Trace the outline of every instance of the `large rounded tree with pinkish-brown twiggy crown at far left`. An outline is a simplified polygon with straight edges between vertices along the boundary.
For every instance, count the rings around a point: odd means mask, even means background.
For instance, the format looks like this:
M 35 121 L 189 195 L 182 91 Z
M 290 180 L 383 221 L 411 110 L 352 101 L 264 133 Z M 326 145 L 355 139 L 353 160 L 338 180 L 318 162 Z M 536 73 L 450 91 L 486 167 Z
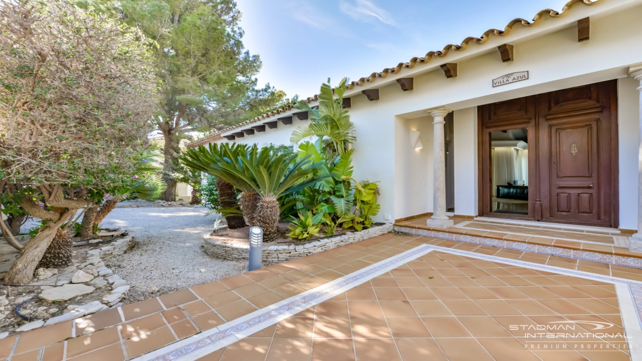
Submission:
M 150 40 L 68 0 L 3 1 L 0 28 L 0 198 L 44 221 L 5 276 L 26 283 L 61 225 L 133 179 L 157 81 Z

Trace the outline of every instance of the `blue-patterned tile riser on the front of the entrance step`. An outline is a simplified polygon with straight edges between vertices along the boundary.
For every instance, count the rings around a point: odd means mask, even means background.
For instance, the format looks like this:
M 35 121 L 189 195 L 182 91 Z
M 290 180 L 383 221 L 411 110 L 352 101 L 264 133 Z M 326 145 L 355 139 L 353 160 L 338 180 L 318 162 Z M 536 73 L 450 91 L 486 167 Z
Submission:
M 395 225 L 394 230 L 398 232 L 416 234 L 417 236 L 441 238 L 442 240 L 474 243 L 478 245 L 489 245 L 492 247 L 515 249 L 517 251 L 550 254 L 551 256 L 575 258 L 576 260 L 609 263 L 611 265 L 635 267 L 638 269 L 642 269 L 642 258 L 616 256 L 614 254 L 605 254 L 605 253 L 598 253 L 598 252 L 591 252 L 591 251 L 580 251 L 576 249 L 553 247 L 548 245 L 535 245 L 533 243 L 514 242 L 514 241 L 507 241 L 507 240 L 495 240 L 493 238 L 467 236 L 465 234 L 429 231 L 428 229 L 418 229 L 418 228 L 412 228 L 412 227 L 399 227 L 398 225 Z

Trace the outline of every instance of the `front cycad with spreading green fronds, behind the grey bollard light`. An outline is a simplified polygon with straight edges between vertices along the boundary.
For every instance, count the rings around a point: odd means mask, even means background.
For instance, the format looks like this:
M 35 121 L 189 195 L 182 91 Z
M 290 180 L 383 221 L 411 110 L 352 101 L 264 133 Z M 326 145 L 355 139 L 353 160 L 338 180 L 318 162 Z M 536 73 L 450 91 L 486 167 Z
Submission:
M 210 144 L 185 152 L 184 163 L 192 168 L 210 173 L 229 182 L 243 193 L 254 192 L 258 201 L 252 214 L 241 205 L 250 225 L 263 229 L 264 240 L 271 242 L 278 237 L 279 201 L 286 195 L 315 184 L 325 177 L 322 164 L 309 157 L 299 158 L 285 147 L 256 145 Z M 241 195 L 243 199 L 243 195 Z

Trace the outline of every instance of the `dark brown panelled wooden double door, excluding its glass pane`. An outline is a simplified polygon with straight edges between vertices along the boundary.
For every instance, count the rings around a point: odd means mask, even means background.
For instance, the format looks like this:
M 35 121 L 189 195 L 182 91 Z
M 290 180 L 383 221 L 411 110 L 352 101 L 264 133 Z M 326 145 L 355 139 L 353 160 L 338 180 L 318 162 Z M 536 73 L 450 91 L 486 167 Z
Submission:
M 618 226 L 617 82 L 478 107 L 480 215 Z M 492 208 L 491 134 L 528 134 L 528 215 Z

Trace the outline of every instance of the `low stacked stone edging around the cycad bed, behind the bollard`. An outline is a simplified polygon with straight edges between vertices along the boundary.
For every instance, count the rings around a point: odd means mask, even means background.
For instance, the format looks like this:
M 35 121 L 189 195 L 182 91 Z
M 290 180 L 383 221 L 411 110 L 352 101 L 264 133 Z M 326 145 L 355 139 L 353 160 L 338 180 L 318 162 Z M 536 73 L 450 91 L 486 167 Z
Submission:
M 384 233 L 392 231 L 392 224 L 379 225 L 361 232 L 349 232 L 333 238 L 325 238 L 302 245 L 271 245 L 263 246 L 263 261 L 282 262 L 294 260 L 309 254 L 327 251 L 342 245 L 367 240 Z M 249 245 L 232 245 L 216 240 L 215 236 L 205 234 L 203 236 L 203 251 L 211 257 L 223 258 L 225 260 L 247 260 L 250 254 Z

